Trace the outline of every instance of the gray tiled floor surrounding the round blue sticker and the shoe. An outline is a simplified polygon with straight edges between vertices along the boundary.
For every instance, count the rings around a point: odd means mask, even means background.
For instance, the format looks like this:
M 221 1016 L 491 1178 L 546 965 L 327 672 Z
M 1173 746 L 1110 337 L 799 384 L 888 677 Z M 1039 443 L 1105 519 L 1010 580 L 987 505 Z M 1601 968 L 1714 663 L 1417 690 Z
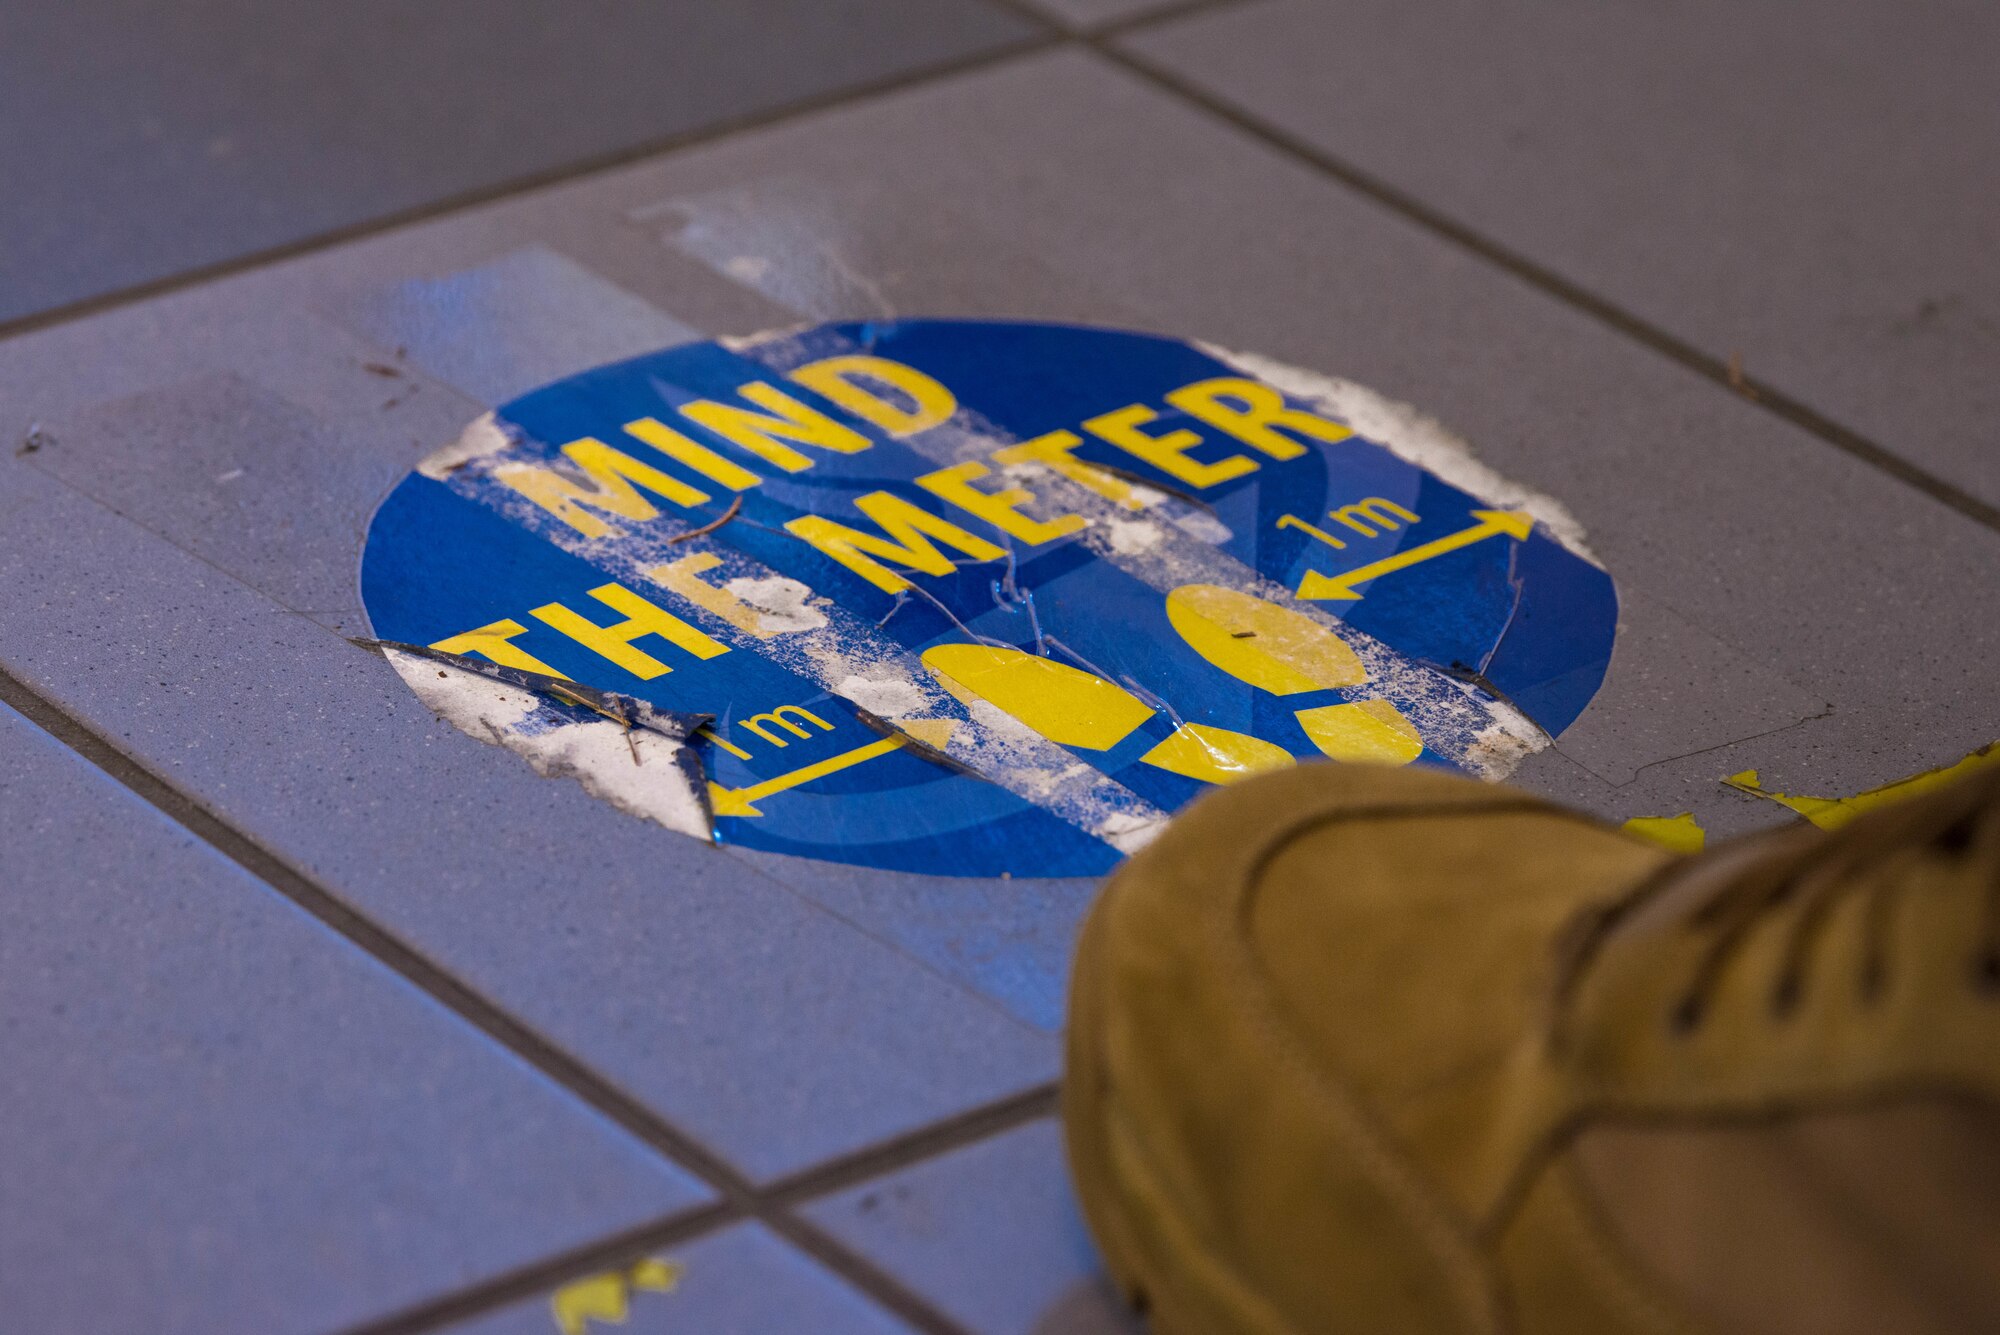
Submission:
M 340 640 L 368 516 L 422 454 L 692 332 L 1078 320 L 1420 404 L 1558 496 L 1618 582 L 1610 677 L 1522 773 L 1610 817 L 1746 829 L 1780 813 L 1718 783 L 1738 769 L 1854 791 L 2000 737 L 1976 6 L 1850 0 L 1810 34 L 1766 0 L 1048 0 L 1062 28 L 870 0 L 746 6 L 754 32 L 730 8 L 554 42 L 514 0 L 390 24 L 388 64 L 380 34 L 220 4 L 172 32 L 106 0 L 78 10 L 98 28 L 0 18 L 32 74 L 0 82 L 0 164 L 48 192 L 0 224 L 0 699 L 26 719 L 0 715 L 0 799 L 28 829 L 0 855 L 36 887 L 0 905 L 32 919 L 0 937 L 30 979 L 0 1043 L 60 1075 L 8 1119 L 88 1105 L 64 1135 L 174 1157 L 204 1107 L 250 1147 L 194 1191 L 0 1145 L 0 1195 L 60 1199 L 66 1255 L 130 1259 L 90 1329 L 162 1329 L 150 1295 L 174 1329 L 558 1331 L 554 1295 L 640 1257 L 682 1269 L 620 1289 L 618 1329 L 1126 1329 L 1048 1117 L 1088 885 L 662 865 L 658 831 Z M 162 72 L 206 66 L 238 74 Z M 418 102 L 374 74 L 444 68 Z M 122 102 L 76 112 L 64 70 Z M 486 122 L 494 70 L 536 78 Z M 206 977 L 118 963 L 172 933 L 216 941 Z M 260 1005 L 274 959 L 298 981 Z M 132 1057 L 160 1027 L 186 1059 Z M 288 1035 L 320 1065 L 278 1059 Z M 90 1061 L 130 1063 L 122 1101 Z M 430 1075 L 354 1079 L 398 1061 Z M 346 1117 L 330 1209 L 300 1105 Z M 460 1143 L 446 1115 L 494 1123 Z M 34 1313 L 66 1293 L 44 1221 L 0 1221 Z

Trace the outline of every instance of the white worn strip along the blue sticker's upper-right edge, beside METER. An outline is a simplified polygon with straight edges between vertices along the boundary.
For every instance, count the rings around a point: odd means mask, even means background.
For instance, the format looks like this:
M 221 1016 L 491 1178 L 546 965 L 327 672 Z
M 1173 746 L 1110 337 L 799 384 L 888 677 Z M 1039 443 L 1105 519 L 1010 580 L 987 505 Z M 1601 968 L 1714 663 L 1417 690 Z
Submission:
M 1344 422 L 1358 434 L 1384 446 L 1396 458 L 1436 474 L 1460 492 L 1470 492 L 1494 510 L 1526 510 L 1564 548 L 1592 566 L 1604 564 L 1584 542 L 1584 526 L 1576 522 L 1576 516 L 1562 502 L 1502 478 L 1472 454 L 1470 444 L 1454 436 L 1424 410 L 1398 404 L 1386 394 L 1376 394 L 1352 380 L 1300 370 L 1254 352 L 1230 352 L 1212 344 L 1196 346 L 1218 362 L 1234 366 L 1244 376 L 1262 380 L 1292 398 L 1306 400 L 1328 418 Z

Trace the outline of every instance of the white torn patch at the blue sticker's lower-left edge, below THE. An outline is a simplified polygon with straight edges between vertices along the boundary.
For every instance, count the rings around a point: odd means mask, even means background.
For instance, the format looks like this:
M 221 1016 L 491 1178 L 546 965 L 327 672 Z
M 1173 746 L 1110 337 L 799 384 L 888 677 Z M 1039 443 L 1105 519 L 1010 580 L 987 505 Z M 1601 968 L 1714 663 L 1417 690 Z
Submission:
M 544 779 L 576 779 L 620 811 L 708 839 L 708 813 L 676 763 L 672 737 L 646 727 L 628 733 L 610 719 L 552 721 L 534 691 L 414 654 L 384 654 L 424 707 L 468 737 L 504 745 Z

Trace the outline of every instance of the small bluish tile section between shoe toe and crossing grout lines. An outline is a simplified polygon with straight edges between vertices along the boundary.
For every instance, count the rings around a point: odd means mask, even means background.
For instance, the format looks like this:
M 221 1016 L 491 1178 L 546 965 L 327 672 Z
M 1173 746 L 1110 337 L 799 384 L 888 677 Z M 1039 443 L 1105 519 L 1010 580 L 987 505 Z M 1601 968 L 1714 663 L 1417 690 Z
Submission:
M 1136 1335 L 1036 1121 L 806 1211 L 978 1335 Z

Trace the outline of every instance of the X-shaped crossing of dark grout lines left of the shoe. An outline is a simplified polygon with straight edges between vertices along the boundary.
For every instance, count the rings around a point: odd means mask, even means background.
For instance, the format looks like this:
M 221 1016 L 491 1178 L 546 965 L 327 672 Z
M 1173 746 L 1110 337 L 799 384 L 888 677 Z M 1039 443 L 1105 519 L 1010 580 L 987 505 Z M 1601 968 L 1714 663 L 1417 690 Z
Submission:
M 126 755 L 110 739 L 76 719 L 62 705 L 36 691 L 6 668 L 0 668 L 0 703 L 12 707 L 70 751 L 96 765 L 110 779 L 122 783 L 136 797 L 178 823 L 182 829 L 208 843 L 216 853 L 228 857 L 272 891 L 284 895 L 302 911 L 310 913 L 350 945 L 362 949 L 376 963 L 428 995 L 434 1003 L 484 1033 L 538 1075 L 570 1093 L 574 1099 L 644 1143 L 654 1153 L 660 1153 L 676 1167 L 682 1167 L 698 1177 L 718 1197 L 708 1205 L 700 1205 L 692 1211 L 676 1213 L 666 1221 L 646 1225 L 646 1237 L 654 1237 L 654 1233 L 678 1237 L 682 1229 L 692 1229 L 696 1221 L 716 1225 L 738 1217 L 758 1219 L 772 1231 L 790 1239 L 802 1251 L 814 1255 L 822 1265 L 832 1269 L 884 1309 L 908 1321 L 918 1331 L 924 1331 L 926 1335 L 964 1335 L 958 1323 L 940 1313 L 926 1299 L 910 1291 L 898 1279 L 880 1271 L 872 1261 L 856 1255 L 846 1245 L 826 1235 L 816 1225 L 786 1213 L 786 1205 L 796 1203 L 798 1193 L 802 1191 L 800 1183 L 804 1189 L 812 1189 L 812 1183 L 824 1179 L 826 1183 L 832 1183 L 826 1189 L 834 1189 L 836 1183 L 848 1181 L 850 1177 L 872 1175 L 876 1163 L 882 1163 L 884 1167 L 900 1167 L 928 1157 L 930 1153 L 940 1153 L 960 1143 L 994 1135 L 1010 1125 L 1016 1125 L 1018 1121 L 1042 1115 L 1054 1099 L 1052 1087 L 1038 1085 L 992 1105 L 970 1109 L 966 1113 L 958 1113 L 956 1117 L 948 1117 L 918 1131 L 894 1137 L 882 1145 L 860 1149 L 852 1155 L 834 1159 L 828 1165 L 806 1169 L 794 1179 L 780 1181 L 784 1201 L 778 1201 L 772 1191 L 760 1191 L 720 1155 L 712 1153 L 694 1137 L 658 1117 L 652 1109 L 628 1095 L 616 1083 L 536 1033 L 510 1011 L 460 981 L 442 965 L 434 963 L 428 955 L 404 943 L 386 927 L 380 927 L 374 919 L 352 909 L 346 901 L 318 885 L 304 871 L 292 867 L 280 855 L 226 823 L 196 797 L 184 793 L 168 779 Z M 786 1181 L 792 1185 L 786 1187 Z M 630 1243 L 630 1235 L 622 1235 L 620 1245 Z M 596 1257 L 602 1247 L 604 1245 L 588 1247 L 584 1255 Z M 562 1261 L 570 1259 L 574 1259 L 572 1253 L 562 1257 Z M 554 1263 L 548 1265 L 552 1267 Z M 542 1277 L 542 1271 L 544 1267 L 540 1265 L 528 1267 L 528 1273 L 536 1277 Z M 508 1287 L 506 1283 L 502 1283 L 502 1287 L 504 1293 L 492 1301 L 506 1301 L 506 1297 L 514 1295 L 514 1287 Z M 448 1307 L 446 1315 L 464 1315 L 460 1311 L 462 1303 L 456 1297 L 438 1299 L 438 1305 Z M 430 1309 L 432 1307 L 426 1305 L 406 1317 L 390 1317 L 382 1323 L 362 1327 L 362 1331 L 368 1335 L 414 1335 L 414 1331 L 430 1329 L 434 1325 L 434 1319 L 428 1315 Z

